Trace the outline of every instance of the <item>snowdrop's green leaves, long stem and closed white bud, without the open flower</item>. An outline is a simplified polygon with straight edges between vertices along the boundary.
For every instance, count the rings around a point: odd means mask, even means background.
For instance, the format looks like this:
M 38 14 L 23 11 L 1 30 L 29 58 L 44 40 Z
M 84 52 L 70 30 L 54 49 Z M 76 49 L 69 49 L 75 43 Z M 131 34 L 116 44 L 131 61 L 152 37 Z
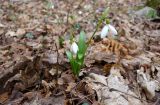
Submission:
M 73 38 L 71 40 L 72 48 L 71 48 L 71 51 L 66 51 L 66 55 L 67 55 L 69 62 L 71 64 L 71 70 L 72 70 L 73 74 L 77 77 L 79 76 L 81 68 L 84 66 L 85 54 L 86 54 L 87 48 L 90 45 L 91 40 L 95 36 L 96 32 L 98 31 L 98 28 L 101 26 L 103 21 L 105 21 L 105 22 L 109 21 L 109 19 L 106 18 L 107 14 L 108 14 L 108 10 L 109 9 L 107 8 L 103 12 L 102 16 L 98 20 L 95 31 L 93 32 L 92 36 L 89 38 L 88 41 L 86 41 L 86 37 L 85 37 L 86 34 L 84 31 L 80 32 L 78 45 L 73 40 Z

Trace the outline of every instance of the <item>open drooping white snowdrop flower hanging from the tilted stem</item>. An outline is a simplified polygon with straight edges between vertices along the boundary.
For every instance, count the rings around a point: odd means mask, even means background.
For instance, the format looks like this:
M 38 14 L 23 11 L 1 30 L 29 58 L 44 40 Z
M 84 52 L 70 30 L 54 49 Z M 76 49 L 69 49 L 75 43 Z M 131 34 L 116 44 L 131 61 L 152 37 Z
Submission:
M 117 30 L 110 24 L 107 24 L 103 27 L 101 31 L 101 38 L 105 38 L 108 35 L 117 35 Z

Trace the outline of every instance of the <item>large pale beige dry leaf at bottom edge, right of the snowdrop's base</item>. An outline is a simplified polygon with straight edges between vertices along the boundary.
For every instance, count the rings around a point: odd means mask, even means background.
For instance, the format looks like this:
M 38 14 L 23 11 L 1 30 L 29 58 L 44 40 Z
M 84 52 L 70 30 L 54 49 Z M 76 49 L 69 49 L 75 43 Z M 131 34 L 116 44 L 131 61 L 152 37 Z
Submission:
M 102 105 L 142 105 L 143 103 L 129 89 L 119 71 L 113 67 L 108 77 L 91 74 L 86 77 L 86 83 L 96 91 L 98 102 Z

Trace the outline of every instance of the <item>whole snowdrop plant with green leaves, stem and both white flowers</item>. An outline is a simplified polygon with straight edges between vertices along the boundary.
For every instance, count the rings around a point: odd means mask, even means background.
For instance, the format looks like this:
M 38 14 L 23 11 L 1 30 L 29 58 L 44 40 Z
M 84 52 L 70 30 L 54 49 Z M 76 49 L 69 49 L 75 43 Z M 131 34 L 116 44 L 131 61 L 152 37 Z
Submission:
M 95 31 L 93 32 L 92 36 L 90 39 L 86 42 L 85 38 L 85 33 L 83 31 L 80 32 L 79 40 L 78 42 L 72 41 L 72 44 L 70 46 L 70 51 L 66 51 L 66 55 L 70 61 L 71 64 L 71 70 L 75 76 L 79 76 L 80 70 L 84 65 L 84 59 L 85 59 L 85 53 L 87 51 L 87 48 L 90 44 L 90 41 L 93 39 L 95 33 L 98 31 L 98 28 L 101 26 L 101 24 L 105 21 L 106 25 L 102 28 L 100 37 L 105 38 L 105 37 L 114 37 L 117 35 L 117 31 L 109 23 L 109 19 L 107 19 L 107 14 L 108 14 L 109 8 L 106 8 L 105 11 L 102 13 L 101 17 L 99 18 L 97 22 L 97 26 L 95 28 Z

